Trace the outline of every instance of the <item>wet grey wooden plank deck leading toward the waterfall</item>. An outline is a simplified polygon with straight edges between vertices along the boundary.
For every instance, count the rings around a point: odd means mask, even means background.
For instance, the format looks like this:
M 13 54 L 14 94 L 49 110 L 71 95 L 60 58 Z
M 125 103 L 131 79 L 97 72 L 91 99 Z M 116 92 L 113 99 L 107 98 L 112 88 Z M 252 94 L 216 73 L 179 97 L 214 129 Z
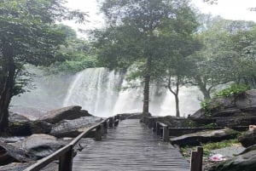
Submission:
M 136 119 L 108 129 L 102 141 L 82 145 L 83 151 L 73 158 L 74 171 L 189 171 L 189 162 L 176 148 Z

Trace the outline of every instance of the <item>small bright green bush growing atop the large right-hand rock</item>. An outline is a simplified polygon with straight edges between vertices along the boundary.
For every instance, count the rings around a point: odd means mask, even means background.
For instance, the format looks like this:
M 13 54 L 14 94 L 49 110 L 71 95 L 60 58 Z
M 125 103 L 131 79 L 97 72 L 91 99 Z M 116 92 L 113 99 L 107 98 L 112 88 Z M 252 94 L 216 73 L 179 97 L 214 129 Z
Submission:
M 216 97 L 238 97 L 248 90 L 245 84 L 232 83 L 229 88 L 224 88 L 220 92 L 214 94 Z

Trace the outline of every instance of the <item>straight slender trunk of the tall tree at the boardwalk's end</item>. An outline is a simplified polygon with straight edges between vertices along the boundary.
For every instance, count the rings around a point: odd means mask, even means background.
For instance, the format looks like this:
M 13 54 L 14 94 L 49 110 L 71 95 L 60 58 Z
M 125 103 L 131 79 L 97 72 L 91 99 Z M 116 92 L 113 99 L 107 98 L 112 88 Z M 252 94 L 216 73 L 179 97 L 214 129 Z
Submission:
M 143 90 L 143 115 L 149 114 L 149 85 L 150 85 L 150 70 L 151 70 L 151 57 L 147 59 L 146 71 L 144 75 L 144 90 Z

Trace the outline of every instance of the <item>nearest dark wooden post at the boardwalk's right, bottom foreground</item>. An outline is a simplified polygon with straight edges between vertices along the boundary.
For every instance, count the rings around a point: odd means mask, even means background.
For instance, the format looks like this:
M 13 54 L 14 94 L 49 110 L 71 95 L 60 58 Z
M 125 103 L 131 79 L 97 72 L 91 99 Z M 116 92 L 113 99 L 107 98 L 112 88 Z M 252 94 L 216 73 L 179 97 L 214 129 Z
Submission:
M 203 148 L 196 147 L 196 151 L 191 151 L 190 171 L 202 171 Z

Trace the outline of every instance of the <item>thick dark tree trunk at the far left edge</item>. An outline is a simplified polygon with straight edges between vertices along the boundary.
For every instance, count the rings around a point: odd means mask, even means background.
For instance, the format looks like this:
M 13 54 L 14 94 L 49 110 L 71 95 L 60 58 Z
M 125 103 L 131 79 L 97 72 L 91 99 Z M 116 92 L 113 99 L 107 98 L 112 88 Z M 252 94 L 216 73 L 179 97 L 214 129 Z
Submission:
M 13 48 L 9 43 L 3 43 L 2 73 L 0 77 L 0 133 L 9 127 L 9 103 L 15 86 L 15 61 Z

